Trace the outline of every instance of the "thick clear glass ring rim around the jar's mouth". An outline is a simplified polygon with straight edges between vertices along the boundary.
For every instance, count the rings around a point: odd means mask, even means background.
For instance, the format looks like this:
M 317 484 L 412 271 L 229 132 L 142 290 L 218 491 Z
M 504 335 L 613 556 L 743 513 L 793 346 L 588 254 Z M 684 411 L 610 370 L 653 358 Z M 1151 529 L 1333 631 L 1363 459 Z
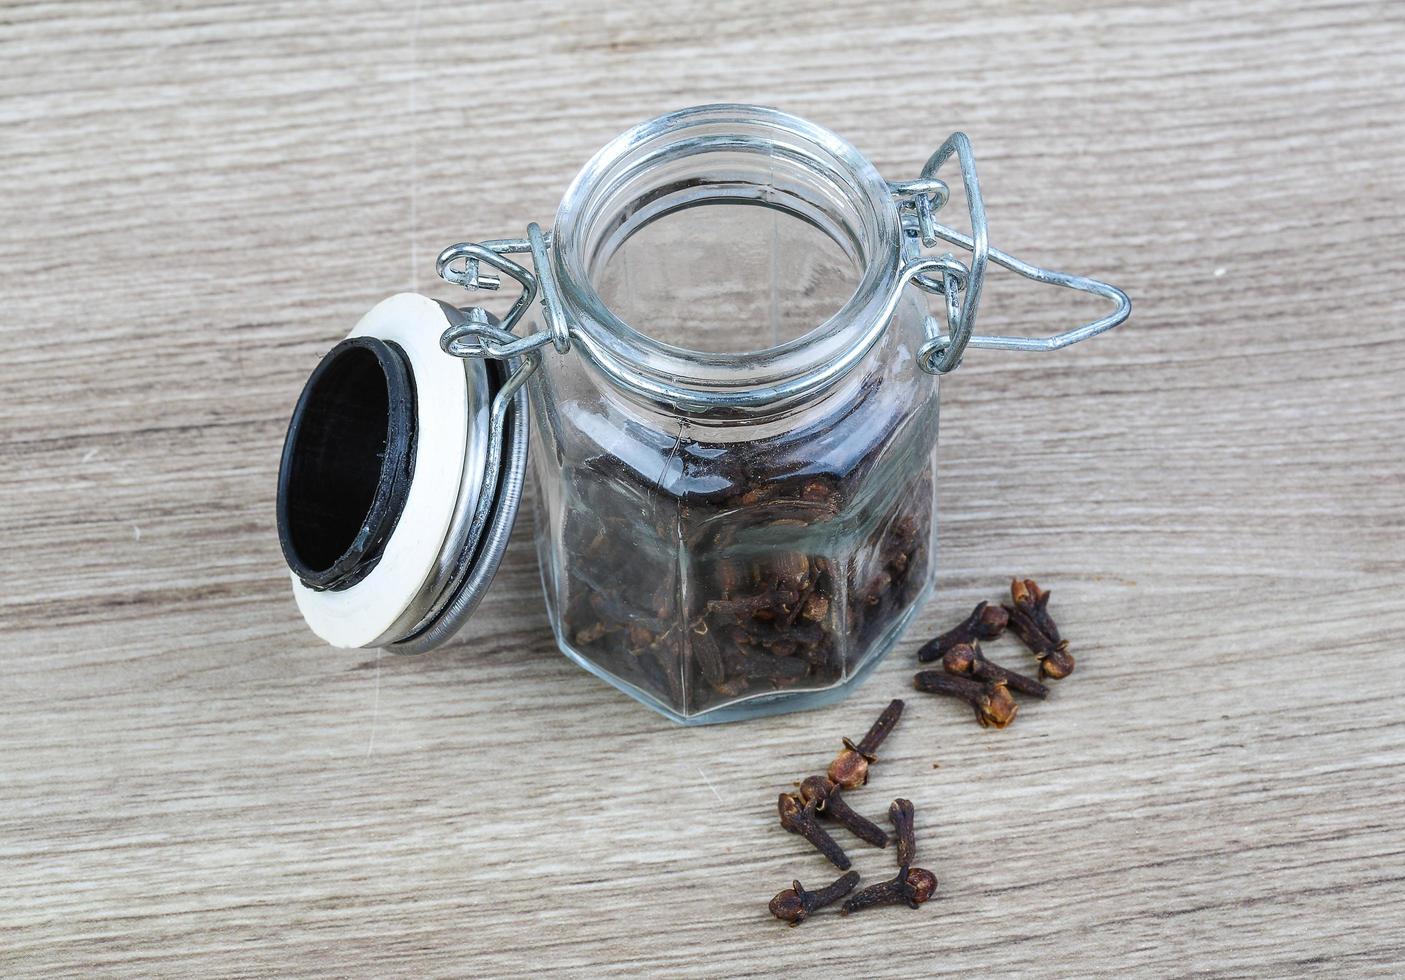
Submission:
M 600 298 L 586 265 L 592 229 L 618 218 L 608 192 L 659 161 L 714 149 L 785 154 L 844 197 L 861 246 L 858 285 L 844 305 L 806 333 L 770 348 L 705 352 L 677 347 L 625 323 Z M 752 413 L 828 390 L 882 336 L 901 265 L 902 226 L 888 183 L 853 145 L 780 110 L 698 105 L 642 122 L 596 153 L 556 212 L 552 263 L 586 357 L 618 388 L 679 411 Z

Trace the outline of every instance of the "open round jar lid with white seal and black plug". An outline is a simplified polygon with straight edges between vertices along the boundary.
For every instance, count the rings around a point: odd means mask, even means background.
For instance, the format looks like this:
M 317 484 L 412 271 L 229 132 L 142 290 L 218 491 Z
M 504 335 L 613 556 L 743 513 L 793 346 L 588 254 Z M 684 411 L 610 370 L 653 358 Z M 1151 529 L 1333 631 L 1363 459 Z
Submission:
M 298 608 L 334 646 L 444 643 L 502 562 L 521 503 L 527 395 L 518 385 L 497 399 L 514 365 L 440 348 L 466 319 L 427 296 L 391 296 L 298 399 L 278 536 Z

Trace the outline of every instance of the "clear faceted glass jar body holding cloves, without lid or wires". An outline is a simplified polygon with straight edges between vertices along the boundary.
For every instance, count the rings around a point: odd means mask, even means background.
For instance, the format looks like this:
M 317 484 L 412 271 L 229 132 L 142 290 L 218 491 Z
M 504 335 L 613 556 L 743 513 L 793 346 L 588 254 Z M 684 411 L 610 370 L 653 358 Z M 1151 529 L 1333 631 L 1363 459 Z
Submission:
M 762 211 L 715 206 L 738 204 Z M 732 232 L 757 215 L 780 218 L 746 254 Z M 937 379 L 916 364 L 923 295 L 891 302 L 899 234 L 857 150 L 770 110 L 665 117 L 582 171 L 552 233 L 577 341 L 531 382 L 537 545 L 569 657 L 700 723 L 842 698 L 891 649 L 936 543 Z M 844 265 L 843 307 L 785 338 Z M 672 288 L 680 270 L 707 302 Z M 729 303 L 757 275 L 767 309 Z M 669 317 L 687 338 L 694 309 L 774 343 L 656 338 Z

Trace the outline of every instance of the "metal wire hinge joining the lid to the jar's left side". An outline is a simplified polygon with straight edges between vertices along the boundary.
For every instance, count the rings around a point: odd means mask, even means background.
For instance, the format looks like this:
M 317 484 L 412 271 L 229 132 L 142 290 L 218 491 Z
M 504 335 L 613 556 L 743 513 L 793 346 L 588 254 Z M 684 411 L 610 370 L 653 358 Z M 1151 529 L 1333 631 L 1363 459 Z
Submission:
M 466 310 L 468 319 L 450 327 L 440 337 L 440 347 L 445 354 L 506 361 L 532 354 L 547 344 L 552 344 L 561 354 L 570 350 L 570 323 L 562 309 L 556 278 L 551 272 L 551 260 L 547 256 L 549 247 L 551 237 L 532 222 L 527 226 L 525 239 L 459 241 L 440 253 L 434 267 L 445 282 L 464 286 L 469 292 L 496 291 L 502 286 L 503 279 L 492 271 L 485 271 L 486 265 L 489 270 L 517 279 L 523 289 L 511 309 L 507 310 L 507 316 L 497 326 L 490 323 L 486 312 L 481 307 L 469 307 Z M 507 257 L 524 253 L 531 254 L 535 271 Z M 538 295 L 541 296 L 547 330 L 517 337 L 513 330 Z M 540 355 L 535 355 L 527 358 L 523 365 L 528 366 L 527 373 L 531 373 L 540 362 Z

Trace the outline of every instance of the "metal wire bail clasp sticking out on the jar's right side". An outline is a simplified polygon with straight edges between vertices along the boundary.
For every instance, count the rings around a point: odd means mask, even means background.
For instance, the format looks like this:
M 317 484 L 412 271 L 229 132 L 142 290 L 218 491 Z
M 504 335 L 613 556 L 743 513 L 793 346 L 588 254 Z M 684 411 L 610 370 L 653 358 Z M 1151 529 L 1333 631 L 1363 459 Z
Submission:
M 961 183 L 965 188 L 967 211 L 971 219 L 971 236 L 961 234 L 936 220 L 934 215 L 950 198 L 947 185 L 937 178 L 937 171 L 951 154 L 961 166 Z M 896 291 L 908 282 L 930 293 L 946 296 L 946 331 L 936 333 L 917 350 L 917 364 L 933 375 L 944 375 L 961 364 L 967 347 L 989 347 L 1005 351 L 1057 351 L 1061 347 L 1087 340 L 1118 326 L 1132 312 L 1131 300 L 1117 286 L 1080 275 L 1054 272 L 1023 263 L 999 249 L 992 249 L 988 240 L 985 201 L 981 198 L 981 183 L 975 174 L 975 157 L 971 140 L 965 133 L 951 133 L 941 147 L 932 154 L 922 168 L 922 177 L 912 181 L 889 181 L 902 219 L 902 257 L 905 260 L 898 274 Z M 939 241 L 948 241 L 971 253 L 971 264 L 965 265 L 951 253 L 944 256 L 923 256 L 922 249 L 932 249 Z M 1052 337 L 1002 337 L 975 333 L 975 314 L 981 303 L 981 288 L 985 285 L 988 263 L 1019 272 L 1027 279 L 1065 286 L 1093 293 L 1111 300 L 1116 309 L 1097 320 L 1082 324 Z

